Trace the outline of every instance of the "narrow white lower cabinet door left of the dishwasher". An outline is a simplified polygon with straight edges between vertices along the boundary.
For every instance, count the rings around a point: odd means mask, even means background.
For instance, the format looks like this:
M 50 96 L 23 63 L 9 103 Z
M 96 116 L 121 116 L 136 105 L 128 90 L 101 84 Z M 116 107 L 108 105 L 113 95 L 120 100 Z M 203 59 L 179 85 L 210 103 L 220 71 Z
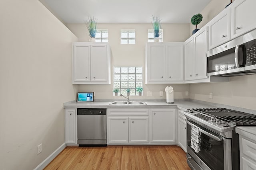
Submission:
M 65 109 L 65 143 L 76 144 L 76 110 Z

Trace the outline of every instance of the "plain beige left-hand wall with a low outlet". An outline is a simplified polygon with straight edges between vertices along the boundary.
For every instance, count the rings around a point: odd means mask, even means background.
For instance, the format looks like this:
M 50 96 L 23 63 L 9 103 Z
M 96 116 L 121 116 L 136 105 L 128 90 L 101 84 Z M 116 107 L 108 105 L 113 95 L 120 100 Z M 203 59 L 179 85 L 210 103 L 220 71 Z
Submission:
M 77 38 L 37 0 L 1 0 L 0 24 L 0 169 L 32 170 L 64 143 Z

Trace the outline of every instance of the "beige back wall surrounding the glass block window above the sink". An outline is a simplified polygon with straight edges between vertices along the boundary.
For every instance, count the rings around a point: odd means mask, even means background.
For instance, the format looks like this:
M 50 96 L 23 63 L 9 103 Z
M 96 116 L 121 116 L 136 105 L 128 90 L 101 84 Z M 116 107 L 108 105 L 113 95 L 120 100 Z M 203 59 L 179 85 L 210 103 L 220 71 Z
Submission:
M 67 27 L 78 37 L 78 41 L 88 42 L 90 38 L 85 24 L 67 24 Z M 164 41 L 184 42 L 189 35 L 189 24 L 163 24 Z M 98 24 L 98 29 L 108 29 L 108 42 L 112 51 L 113 66 L 143 66 L 145 68 L 145 46 L 148 39 L 148 29 L 152 29 L 151 24 Z M 136 44 L 121 45 L 120 29 L 136 29 Z M 111 74 L 112 75 L 112 74 Z M 144 74 L 145 76 L 145 74 Z M 188 98 L 185 91 L 189 90 L 188 84 L 144 84 L 144 96 L 131 96 L 131 99 L 165 99 L 159 96 L 160 91 L 164 91 L 166 86 L 174 88 L 174 98 Z M 79 91 L 96 92 L 95 99 L 124 99 L 120 96 L 113 96 L 113 76 L 110 85 L 79 85 Z M 152 96 L 147 96 L 151 91 Z

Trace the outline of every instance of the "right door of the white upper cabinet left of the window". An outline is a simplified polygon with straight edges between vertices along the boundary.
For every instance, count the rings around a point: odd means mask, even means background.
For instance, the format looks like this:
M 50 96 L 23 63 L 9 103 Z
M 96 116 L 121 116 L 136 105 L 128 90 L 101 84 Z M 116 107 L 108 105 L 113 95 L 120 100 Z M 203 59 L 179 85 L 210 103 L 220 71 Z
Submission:
M 91 45 L 91 81 L 108 81 L 107 45 Z

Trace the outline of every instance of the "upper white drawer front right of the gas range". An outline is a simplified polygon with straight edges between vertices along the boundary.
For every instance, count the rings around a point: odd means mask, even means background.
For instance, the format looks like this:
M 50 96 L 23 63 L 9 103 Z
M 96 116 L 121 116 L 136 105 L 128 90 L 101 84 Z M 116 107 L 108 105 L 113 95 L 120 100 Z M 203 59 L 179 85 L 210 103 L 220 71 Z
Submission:
M 256 143 L 243 137 L 240 138 L 240 143 L 242 144 L 242 153 L 256 161 Z

